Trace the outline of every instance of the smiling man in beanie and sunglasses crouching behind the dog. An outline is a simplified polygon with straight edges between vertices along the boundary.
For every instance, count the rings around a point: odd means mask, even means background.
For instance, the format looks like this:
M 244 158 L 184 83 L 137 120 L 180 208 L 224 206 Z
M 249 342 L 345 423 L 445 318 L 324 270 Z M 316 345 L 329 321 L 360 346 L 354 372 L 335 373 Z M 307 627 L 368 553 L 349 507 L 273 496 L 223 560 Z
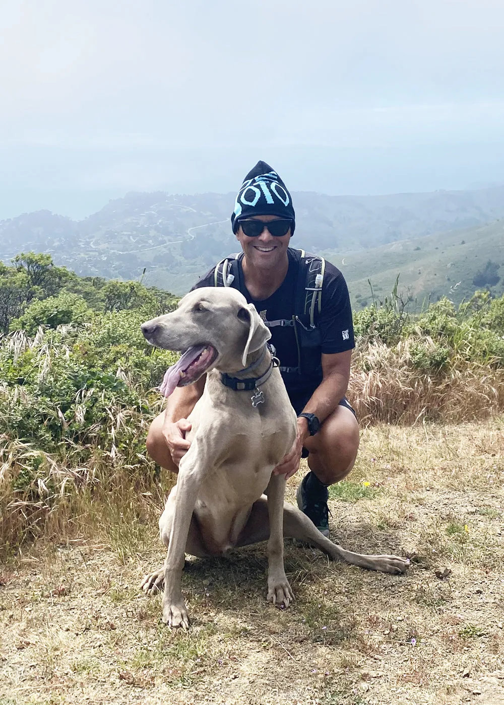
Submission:
M 294 446 L 273 472 L 289 479 L 299 469 L 301 457 L 308 457 L 310 472 L 299 484 L 298 505 L 328 536 L 328 486 L 352 470 L 359 448 L 359 424 L 344 396 L 354 348 L 347 285 L 341 272 L 326 263 L 316 327 L 296 317 L 298 273 L 306 263 L 299 250 L 289 248 L 295 228 L 290 194 L 264 161 L 247 174 L 231 222 L 243 255 L 236 261 L 237 276 L 227 286 L 239 288 L 269 324 L 282 377 L 299 415 Z M 215 281 L 212 267 L 194 288 L 214 286 Z M 188 450 L 187 417 L 204 386 L 203 376 L 195 384 L 177 387 L 150 426 L 148 453 L 167 470 L 178 472 Z

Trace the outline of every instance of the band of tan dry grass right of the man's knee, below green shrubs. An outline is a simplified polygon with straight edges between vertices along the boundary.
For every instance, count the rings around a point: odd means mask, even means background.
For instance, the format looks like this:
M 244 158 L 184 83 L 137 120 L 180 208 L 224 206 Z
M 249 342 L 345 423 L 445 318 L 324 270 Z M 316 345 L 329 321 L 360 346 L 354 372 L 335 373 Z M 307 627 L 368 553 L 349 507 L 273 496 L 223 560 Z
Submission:
M 411 343 L 370 343 L 356 353 L 349 398 L 361 423 L 462 422 L 504 412 L 504 369 L 459 359 L 449 372 L 421 374 Z

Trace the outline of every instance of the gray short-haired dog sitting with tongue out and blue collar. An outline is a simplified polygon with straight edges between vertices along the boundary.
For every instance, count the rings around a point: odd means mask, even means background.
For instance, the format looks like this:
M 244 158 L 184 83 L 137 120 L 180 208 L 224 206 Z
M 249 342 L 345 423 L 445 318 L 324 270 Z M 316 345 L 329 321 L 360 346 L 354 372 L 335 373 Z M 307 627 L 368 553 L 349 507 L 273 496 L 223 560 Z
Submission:
M 285 479 L 272 470 L 294 443 L 296 414 L 266 345 L 270 331 L 239 291 L 199 288 L 176 311 L 141 327 L 152 345 L 186 351 L 164 376 L 165 396 L 207 374 L 189 416 L 191 447 L 160 518 L 167 558 L 142 583 L 147 594 L 164 589 L 164 623 L 189 626 L 181 592 L 185 553 L 222 556 L 229 548 L 267 540 L 268 601 L 285 607 L 293 594 L 284 570 L 284 536 L 362 568 L 407 570 L 404 558 L 345 551 L 284 503 Z

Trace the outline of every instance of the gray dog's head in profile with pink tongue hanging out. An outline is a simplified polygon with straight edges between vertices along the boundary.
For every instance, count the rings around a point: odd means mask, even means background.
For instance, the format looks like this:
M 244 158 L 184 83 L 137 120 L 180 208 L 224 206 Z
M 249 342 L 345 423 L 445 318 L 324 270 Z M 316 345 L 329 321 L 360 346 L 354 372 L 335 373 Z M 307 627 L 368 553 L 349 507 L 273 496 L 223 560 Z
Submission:
M 209 369 L 237 372 L 247 356 L 271 337 L 253 304 L 233 288 L 203 287 L 189 292 L 176 311 L 140 326 L 149 343 L 187 351 L 177 365 L 178 386 L 191 384 Z

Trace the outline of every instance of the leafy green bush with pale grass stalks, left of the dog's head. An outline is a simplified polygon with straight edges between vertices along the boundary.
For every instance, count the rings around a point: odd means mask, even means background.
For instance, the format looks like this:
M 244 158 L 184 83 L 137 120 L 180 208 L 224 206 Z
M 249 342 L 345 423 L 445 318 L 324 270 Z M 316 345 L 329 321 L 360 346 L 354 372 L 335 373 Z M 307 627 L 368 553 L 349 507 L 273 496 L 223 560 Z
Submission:
M 149 390 L 175 356 L 148 345 L 139 327 L 146 318 L 143 309 L 95 314 L 35 341 L 22 331 L 8 336 L 0 346 L 0 433 L 50 451 L 65 442 L 107 446 L 111 413 L 152 415 Z

